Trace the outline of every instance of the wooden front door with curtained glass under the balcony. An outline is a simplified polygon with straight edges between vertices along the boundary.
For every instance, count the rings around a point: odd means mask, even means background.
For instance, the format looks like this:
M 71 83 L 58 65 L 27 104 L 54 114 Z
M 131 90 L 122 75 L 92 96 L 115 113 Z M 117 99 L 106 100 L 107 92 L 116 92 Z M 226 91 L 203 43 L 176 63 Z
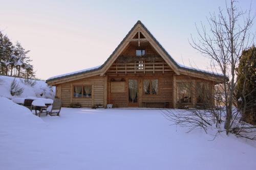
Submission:
M 139 107 L 139 84 L 137 79 L 128 79 L 128 107 Z

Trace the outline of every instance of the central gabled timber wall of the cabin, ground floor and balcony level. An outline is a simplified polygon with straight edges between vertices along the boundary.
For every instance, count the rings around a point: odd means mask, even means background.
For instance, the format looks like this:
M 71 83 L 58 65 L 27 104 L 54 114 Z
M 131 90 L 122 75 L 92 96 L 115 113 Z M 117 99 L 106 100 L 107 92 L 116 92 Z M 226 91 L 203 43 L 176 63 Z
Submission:
M 144 56 L 136 56 L 136 50 L 145 50 Z M 173 70 L 148 42 L 131 42 L 106 72 L 108 75 L 107 103 L 114 107 L 167 107 L 173 105 Z M 138 104 L 129 106 L 129 79 L 138 81 Z M 158 94 L 144 94 L 143 80 L 158 80 Z M 112 91 L 112 82 L 124 82 L 125 89 Z M 150 103 L 151 102 L 151 103 Z M 154 102 L 156 104 L 154 104 Z

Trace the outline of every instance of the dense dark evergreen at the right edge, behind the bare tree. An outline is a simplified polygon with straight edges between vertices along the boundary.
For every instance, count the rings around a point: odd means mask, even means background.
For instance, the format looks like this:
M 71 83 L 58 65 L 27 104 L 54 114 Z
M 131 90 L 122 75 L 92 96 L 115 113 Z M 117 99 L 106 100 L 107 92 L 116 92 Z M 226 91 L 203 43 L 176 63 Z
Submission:
M 237 68 L 237 103 L 243 120 L 256 124 L 256 47 L 243 51 Z

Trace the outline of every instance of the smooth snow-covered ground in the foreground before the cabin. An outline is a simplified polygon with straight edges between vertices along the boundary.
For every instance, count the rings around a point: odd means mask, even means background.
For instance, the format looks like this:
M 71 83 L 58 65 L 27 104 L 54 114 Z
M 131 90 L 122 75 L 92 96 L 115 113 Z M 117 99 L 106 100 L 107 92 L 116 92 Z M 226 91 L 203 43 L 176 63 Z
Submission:
M 0 98 L 0 169 L 255 169 L 255 142 L 210 141 L 170 124 L 159 109 L 62 108 L 39 118 Z

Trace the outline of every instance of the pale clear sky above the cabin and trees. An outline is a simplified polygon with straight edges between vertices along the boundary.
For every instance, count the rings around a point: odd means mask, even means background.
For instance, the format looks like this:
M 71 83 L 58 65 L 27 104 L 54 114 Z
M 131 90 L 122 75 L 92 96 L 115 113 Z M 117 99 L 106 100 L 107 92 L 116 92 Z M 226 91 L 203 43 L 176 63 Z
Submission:
M 256 0 L 239 8 L 256 11 Z M 207 70 L 209 61 L 188 43 L 195 23 L 225 7 L 216 1 L 2 1 L 0 30 L 31 50 L 38 78 L 102 64 L 141 20 L 179 63 Z M 255 24 L 252 28 L 256 30 Z

